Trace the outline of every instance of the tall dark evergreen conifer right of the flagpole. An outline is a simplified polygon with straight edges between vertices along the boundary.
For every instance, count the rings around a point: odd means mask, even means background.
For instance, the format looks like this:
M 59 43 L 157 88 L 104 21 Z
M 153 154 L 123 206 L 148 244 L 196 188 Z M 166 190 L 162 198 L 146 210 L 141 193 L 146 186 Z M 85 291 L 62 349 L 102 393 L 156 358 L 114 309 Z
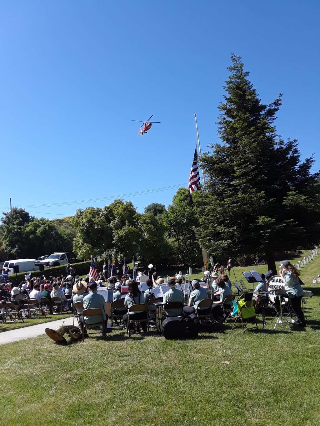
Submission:
M 216 258 L 312 248 L 320 240 L 319 173 L 312 156 L 300 162 L 297 140 L 283 140 L 274 121 L 279 95 L 262 104 L 241 57 L 232 55 L 212 153 L 202 157 L 206 196 L 198 197 L 198 239 Z M 201 203 L 202 200 L 202 203 Z

